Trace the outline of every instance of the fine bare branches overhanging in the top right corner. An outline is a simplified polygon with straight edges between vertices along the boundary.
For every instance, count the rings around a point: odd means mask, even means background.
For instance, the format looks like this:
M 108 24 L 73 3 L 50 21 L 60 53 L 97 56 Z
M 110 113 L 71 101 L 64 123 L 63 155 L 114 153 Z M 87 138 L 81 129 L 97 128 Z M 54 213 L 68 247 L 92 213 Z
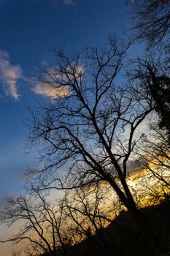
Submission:
M 160 45 L 169 34 L 169 0 L 134 0 L 131 1 L 131 18 L 137 31 L 137 38 L 146 39 L 149 45 Z M 169 38 L 169 37 L 168 37 Z

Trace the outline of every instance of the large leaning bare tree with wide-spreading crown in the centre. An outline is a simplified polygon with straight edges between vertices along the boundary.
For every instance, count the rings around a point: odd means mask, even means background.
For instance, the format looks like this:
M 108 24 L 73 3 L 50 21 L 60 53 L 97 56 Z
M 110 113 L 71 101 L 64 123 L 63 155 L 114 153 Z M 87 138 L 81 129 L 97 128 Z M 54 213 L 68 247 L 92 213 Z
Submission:
M 74 57 L 55 51 L 57 64 L 43 70 L 38 81 L 55 91 L 53 101 L 32 113 L 30 142 L 39 146 L 44 166 L 28 174 L 36 176 L 38 189 L 107 181 L 136 216 L 127 164 L 140 140 L 136 130 L 153 106 L 140 85 L 115 84 L 128 47 L 110 37 L 101 50 L 85 48 Z

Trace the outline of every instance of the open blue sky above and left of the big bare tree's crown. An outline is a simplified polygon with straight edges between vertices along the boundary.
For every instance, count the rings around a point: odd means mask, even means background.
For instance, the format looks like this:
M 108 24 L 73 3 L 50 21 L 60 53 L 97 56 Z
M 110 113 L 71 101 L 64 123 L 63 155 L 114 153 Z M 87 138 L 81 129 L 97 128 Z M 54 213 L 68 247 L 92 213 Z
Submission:
M 25 122 L 28 108 L 49 96 L 31 82 L 38 65 L 54 61 L 54 48 L 100 47 L 108 34 L 122 36 L 127 20 L 125 0 L 0 0 L 0 208 L 23 191 L 23 169 L 36 165 Z

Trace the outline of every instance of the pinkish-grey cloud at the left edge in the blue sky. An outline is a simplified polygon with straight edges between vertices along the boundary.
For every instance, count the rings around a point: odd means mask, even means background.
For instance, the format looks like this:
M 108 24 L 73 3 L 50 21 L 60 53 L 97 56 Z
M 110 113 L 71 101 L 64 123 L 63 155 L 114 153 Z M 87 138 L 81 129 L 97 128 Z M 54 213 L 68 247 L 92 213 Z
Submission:
M 22 78 L 23 70 L 20 65 L 10 64 L 9 54 L 0 50 L 0 83 L 7 96 L 19 99 L 17 81 Z

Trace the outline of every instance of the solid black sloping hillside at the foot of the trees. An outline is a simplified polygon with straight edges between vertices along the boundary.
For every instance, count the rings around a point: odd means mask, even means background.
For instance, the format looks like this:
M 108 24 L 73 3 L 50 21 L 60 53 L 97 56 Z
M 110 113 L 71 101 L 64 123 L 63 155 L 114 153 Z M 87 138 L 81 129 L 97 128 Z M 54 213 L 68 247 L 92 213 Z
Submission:
M 87 238 L 74 246 L 61 246 L 54 255 L 115 255 L 115 256 L 149 256 L 169 255 L 170 251 L 170 200 L 167 199 L 157 206 L 141 209 L 144 215 L 151 239 L 145 237 L 134 222 L 129 211 L 120 211 L 120 214 L 106 228 L 101 228 L 98 233 L 87 234 Z M 154 252 L 155 251 L 155 252 Z M 46 256 L 43 254 L 41 256 Z

